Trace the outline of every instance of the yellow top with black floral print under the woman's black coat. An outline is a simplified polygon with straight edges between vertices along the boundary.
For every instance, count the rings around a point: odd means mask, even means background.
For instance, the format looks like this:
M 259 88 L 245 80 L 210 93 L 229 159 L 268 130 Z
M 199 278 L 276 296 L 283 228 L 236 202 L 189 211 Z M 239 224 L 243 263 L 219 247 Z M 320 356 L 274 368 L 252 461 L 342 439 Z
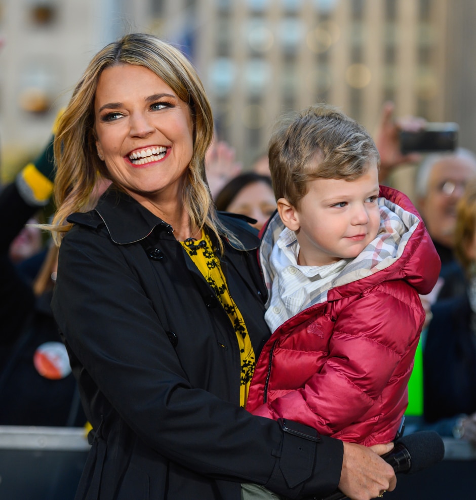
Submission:
M 208 284 L 215 291 L 234 327 L 241 358 L 240 405 L 245 406 L 256 364 L 255 353 L 246 329 L 245 320 L 230 296 L 220 261 L 213 252 L 213 245 L 208 235 L 202 231 L 200 241 L 189 238 L 186 241 L 181 241 L 181 243 Z

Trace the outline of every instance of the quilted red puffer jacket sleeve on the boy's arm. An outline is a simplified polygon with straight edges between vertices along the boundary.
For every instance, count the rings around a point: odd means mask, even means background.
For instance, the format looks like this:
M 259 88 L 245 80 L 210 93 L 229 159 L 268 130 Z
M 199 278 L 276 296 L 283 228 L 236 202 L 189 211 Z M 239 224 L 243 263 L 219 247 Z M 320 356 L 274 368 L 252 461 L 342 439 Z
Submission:
M 382 392 L 395 377 L 409 377 L 424 318 L 416 290 L 401 284 L 396 290 L 374 289 L 345 307 L 335 322 L 322 369 L 303 387 L 253 413 L 297 420 L 344 441 L 367 437 L 360 426 L 359 436 L 348 439 L 347 428 L 365 420 L 366 412 L 380 404 Z

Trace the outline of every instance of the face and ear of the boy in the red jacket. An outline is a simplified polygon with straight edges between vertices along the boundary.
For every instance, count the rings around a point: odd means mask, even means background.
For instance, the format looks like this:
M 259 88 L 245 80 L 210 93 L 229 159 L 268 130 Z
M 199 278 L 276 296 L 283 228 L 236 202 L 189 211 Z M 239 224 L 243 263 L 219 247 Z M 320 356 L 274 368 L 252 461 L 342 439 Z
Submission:
M 298 264 L 324 266 L 358 256 L 379 230 L 378 193 L 377 164 L 370 162 L 367 172 L 353 181 L 309 181 L 299 210 L 282 202 L 280 215 L 301 247 Z

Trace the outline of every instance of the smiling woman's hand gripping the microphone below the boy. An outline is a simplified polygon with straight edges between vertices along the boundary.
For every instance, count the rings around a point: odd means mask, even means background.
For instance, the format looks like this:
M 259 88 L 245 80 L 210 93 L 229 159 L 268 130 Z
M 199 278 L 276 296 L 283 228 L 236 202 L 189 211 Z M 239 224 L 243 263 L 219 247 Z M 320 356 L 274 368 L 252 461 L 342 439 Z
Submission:
M 391 465 L 379 455 L 393 448 L 393 443 L 366 447 L 344 442 L 344 460 L 339 489 L 353 500 L 370 500 L 384 491 L 395 489 L 396 476 Z

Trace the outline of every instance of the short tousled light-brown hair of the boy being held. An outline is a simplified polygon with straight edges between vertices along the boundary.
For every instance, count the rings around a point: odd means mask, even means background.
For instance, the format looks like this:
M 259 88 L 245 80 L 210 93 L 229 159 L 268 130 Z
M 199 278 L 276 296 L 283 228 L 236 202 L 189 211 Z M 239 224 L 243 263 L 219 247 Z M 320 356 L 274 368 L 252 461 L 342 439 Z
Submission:
M 275 124 L 269 140 L 269 169 L 276 199 L 299 207 L 313 179 L 354 180 L 380 161 L 367 130 L 334 106 L 314 104 Z

